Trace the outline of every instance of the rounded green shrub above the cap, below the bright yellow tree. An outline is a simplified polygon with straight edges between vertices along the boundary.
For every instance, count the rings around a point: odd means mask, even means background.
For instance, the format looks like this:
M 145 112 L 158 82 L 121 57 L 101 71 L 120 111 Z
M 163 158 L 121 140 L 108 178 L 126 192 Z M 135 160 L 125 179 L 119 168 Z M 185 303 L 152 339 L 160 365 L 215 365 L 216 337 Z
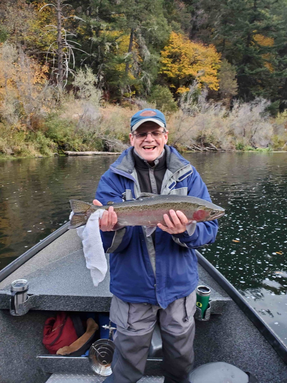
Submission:
M 173 98 L 171 91 L 168 87 L 162 85 L 155 85 L 152 87 L 150 96 L 147 98 L 149 103 L 155 103 L 157 109 L 165 114 L 171 114 L 178 110 L 176 101 Z

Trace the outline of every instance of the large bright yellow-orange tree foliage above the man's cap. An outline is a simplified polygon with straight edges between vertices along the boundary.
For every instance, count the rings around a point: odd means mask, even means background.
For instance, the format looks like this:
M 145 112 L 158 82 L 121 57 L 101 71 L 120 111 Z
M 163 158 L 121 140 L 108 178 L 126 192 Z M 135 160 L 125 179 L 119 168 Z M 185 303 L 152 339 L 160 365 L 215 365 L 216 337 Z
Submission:
M 172 32 L 168 45 L 161 51 L 160 73 L 166 75 L 171 83 L 177 84 L 177 93 L 184 93 L 191 80 L 197 79 L 199 85 L 219 89 L 217 71 L 220 68 L 220 53 L 213 45 L 194 43 L 182 34 Z M 179 80 L 179 86 L 178 86 Z

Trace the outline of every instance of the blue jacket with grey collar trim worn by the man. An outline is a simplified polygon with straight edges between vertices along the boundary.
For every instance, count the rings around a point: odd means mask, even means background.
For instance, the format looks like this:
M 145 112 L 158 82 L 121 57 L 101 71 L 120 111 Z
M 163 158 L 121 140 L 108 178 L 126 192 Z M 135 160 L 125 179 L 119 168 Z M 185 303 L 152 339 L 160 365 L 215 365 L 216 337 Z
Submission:
M 137 198 L 140 194 L 133 147 L 125 150 L 101 177 L 96 199 L 103 205 Z M 167 170 L 161 194 L 190 195 L 210 200 L 196 169 L 176 149 L 165 145 Z M 198 223 L 192 236 L 168 234 L 157 228 L 155 246 L 145 227 L 127 226 L 101 231 L 104 250 L 110 253 L 111 293 L 131 303 L 152 303 L 166 308 L 188 296 L 198 282 L 196 247 L 215 241 L 217 220 Z

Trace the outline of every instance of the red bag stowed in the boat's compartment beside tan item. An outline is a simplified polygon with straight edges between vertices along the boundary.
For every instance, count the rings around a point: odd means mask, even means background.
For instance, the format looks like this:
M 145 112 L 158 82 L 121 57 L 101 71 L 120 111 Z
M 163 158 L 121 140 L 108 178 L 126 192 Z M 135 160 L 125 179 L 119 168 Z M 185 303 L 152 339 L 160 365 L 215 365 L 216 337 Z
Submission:
M 56 318 L 48 318 L 44 324 L 43 344 L 50 354 L 69 346 L 78 335 L 72 319 L 64 311 L 57 313 Z

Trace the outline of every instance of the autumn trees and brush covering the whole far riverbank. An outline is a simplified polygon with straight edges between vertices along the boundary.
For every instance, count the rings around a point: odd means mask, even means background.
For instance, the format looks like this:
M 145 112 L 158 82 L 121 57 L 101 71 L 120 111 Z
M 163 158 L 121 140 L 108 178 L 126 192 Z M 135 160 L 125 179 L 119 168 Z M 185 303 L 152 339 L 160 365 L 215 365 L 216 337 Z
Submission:
M 3 0 L 0 159 L 122 152 L 143 108 L 180 152 L 287 151 L 286 0 L 266 1 Z

